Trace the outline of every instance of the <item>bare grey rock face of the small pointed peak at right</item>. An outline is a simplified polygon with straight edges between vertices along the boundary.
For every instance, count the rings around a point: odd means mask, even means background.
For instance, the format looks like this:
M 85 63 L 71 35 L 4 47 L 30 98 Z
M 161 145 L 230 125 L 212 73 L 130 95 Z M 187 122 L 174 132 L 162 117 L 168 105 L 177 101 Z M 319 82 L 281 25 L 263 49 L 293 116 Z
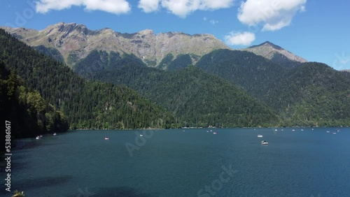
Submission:
M 285 50 L 277 45 L 274 45 L 269 41 L 262 43 L 260 45 L 251 46 L 249 48 L 245 48 L 241 50 L 253 52 L 267 59 L 272 59 L 276 54 L 281 54 L 292 61 L 307 62 L 306 59 L 303 59 L 302 57 L 299 57 L 293 54 L 292 52 L 289 52 L 288 50 Z

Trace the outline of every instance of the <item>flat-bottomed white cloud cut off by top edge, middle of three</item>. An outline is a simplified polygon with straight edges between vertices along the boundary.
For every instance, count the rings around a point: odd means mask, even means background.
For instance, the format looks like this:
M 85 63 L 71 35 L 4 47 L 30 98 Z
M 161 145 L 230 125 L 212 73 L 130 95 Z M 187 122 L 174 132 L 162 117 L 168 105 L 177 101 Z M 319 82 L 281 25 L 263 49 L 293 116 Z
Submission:
M 234 0 L 140 0 L 139 8 L 146 13 L 158 10 L 160 7 L 179 17 L 186 17 L 195 10 L 217 10 L 230 8 Z

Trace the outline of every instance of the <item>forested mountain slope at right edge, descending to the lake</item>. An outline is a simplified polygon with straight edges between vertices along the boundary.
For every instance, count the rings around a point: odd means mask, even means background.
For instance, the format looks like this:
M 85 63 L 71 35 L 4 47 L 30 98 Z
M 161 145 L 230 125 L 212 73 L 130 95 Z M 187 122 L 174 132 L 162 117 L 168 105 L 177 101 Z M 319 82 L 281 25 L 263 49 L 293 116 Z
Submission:
M 270 87 L 263 100 L 281 113 L 286 125 L 350 125 L 350 73 L 307 62 Z

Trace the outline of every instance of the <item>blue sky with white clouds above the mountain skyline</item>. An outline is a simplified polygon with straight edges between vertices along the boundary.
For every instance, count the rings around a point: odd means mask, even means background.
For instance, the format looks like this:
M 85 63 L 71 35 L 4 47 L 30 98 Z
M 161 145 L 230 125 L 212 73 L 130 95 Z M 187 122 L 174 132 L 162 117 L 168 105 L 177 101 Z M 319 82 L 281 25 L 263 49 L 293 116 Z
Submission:
M 269 41 L 343 70 L 350 69 L 349 9 L 349 0 L 0 0 L 0 26 L 213 34 L 233 49 Z

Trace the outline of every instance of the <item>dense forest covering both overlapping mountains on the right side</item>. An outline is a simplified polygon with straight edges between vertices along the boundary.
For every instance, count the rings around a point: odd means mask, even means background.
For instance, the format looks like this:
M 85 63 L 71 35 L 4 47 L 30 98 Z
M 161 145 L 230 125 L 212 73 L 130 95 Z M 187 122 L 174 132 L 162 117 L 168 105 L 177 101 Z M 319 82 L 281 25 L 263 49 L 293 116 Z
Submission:
M 279 115 L 281 126 L 350 125 L 350 73 L 317 62 L 281 65 L 230 50 L 206 54 L 197 66 L 265 102 Z

